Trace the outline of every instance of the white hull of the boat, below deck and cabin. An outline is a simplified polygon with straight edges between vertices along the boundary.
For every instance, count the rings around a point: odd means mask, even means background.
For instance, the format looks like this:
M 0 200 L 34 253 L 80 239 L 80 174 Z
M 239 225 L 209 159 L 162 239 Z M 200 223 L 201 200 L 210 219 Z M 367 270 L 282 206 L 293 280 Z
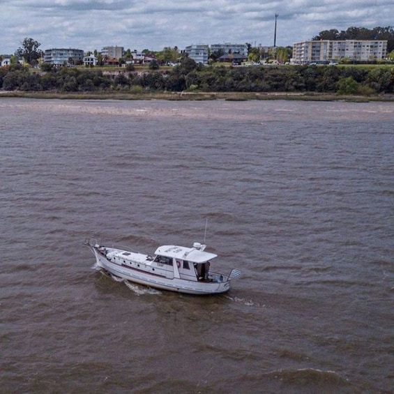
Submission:
M 223 277 L 222 282 L 195 282 L 180 278 L 165 278 L 161 275 L 146 273 L 142 270 L 122 266 L 109 261 L 107 257 L 102 255 L 96 248 L 92 248 L 96 256 L 97 265 L 108 271 L 118 278 L 135 282 L 139 285 L 145 285 L 156 289 L 169 291 L 177 291 L 185 294 L 220 294 L 229 291 L 230 281 L 227 277 Z

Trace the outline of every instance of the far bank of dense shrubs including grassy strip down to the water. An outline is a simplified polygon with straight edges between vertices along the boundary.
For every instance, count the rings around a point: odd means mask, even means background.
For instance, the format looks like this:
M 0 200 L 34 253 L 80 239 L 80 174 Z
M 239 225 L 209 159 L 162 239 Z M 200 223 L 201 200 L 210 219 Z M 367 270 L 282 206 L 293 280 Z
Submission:
M 394 66 L 0 69 L 1 97 L 120 100 L 394 100 Z

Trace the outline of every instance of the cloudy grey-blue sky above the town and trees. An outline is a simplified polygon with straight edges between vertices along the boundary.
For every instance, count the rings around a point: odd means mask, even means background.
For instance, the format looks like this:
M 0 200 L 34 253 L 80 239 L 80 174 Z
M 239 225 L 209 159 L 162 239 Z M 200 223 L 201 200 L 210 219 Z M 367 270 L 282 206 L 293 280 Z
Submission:
M 183 50 L 192 44 L 310 40 L 320 31 L 394 24 L 393 0 L 0 0 L 0 54 L 24 38 L 40 50 Z

